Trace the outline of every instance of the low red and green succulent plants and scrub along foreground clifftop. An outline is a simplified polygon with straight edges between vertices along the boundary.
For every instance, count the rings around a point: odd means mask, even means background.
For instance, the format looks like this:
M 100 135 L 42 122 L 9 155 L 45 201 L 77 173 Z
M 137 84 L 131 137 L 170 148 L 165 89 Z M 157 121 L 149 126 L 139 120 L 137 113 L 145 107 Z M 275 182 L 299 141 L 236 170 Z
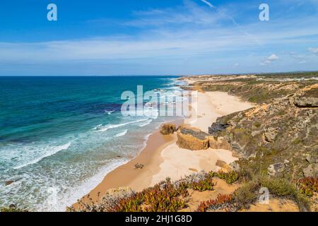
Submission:
M 196 206 L 197 212 L 206 211 L 240 211 L 257 203 L 259 189 L 269 189 L 271 198 L 286 199 L 297 204 L 299 210 L 310 210 L 311 192 L 317 192 L 317 179 L 306 178 L 290 182 L 283 177 L 247 174 L 246 172 L 199 172 L 191 174 L 176 182 L 167 178 L 141 192 L 124 190 L 123 192 L 107 193 L 98 203 L 83 203 L 81 208 L 69 208 L 69 211 L 89 212 L 175 212 L 189 206 L 192 191 L 214 192 L 217 178 L 228 184 L 239 185 L 231 194 L 218 194 L 216 198 L 202 200 Z M 307 192 L 305 192 L 307 188 Z

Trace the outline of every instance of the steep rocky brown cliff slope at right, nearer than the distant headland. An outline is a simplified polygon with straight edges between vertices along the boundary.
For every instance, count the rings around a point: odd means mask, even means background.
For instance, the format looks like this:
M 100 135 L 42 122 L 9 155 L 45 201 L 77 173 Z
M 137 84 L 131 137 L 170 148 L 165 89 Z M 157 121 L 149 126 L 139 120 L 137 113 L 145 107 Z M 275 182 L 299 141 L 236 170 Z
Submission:
M 317 85 L 311 88 L 318 95 Z M 270 104 L 222 117 L 209 132 L 224 137 L 242 157 L 258 162 L 259 169 L 269 174 L 318 177 L 317 97 L 306 94 L 300 90 Z

